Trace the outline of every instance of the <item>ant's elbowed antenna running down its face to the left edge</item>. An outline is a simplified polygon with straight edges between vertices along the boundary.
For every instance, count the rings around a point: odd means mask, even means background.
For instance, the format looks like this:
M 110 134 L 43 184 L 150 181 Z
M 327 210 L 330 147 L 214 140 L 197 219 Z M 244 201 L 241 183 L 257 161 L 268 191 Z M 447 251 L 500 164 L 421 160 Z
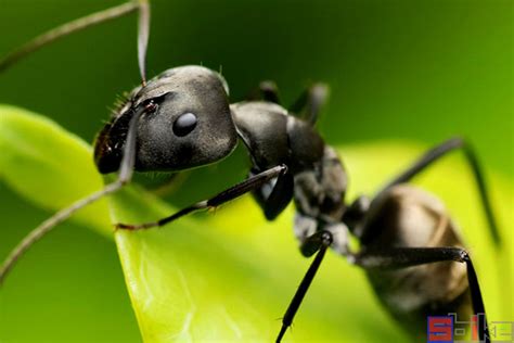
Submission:
M 105 186 L 104 189 L 92 193 L 87 198 L 82 198 L 77 202 L 73 203 L 70 206 L 61 209 L 52 217 L 48 218 L 33 231 L 30 231 L 23 240 L 18 243 L 16 247 L 14 247 L 9 256 L 5 258 L 3 264 L 0 267 L 0 287 L 3 284 L 3 280 L 5 279 L 9 271 L 13 268 L 14 264 L 20 259 L 20 257 L 28 250 L 30 246 L 34 245 L 37 241 L 39 241 L 42 237 L 49 233 L 53 228 L 55 228 L 59 224 L 63 223 L 67 218 L 69 218 L 74 213 L 79 211 L 80 208 L 102 199 L 103 196 L 114 193 L 127 185 L 130 179 L 132 178 L 133 165 L 136 161 L 136 137 L 137 137 L 137 129 L 138 125 L 137 122 L 139 117 L 144 112 L 144 107 L 134 112 L 127 134 L 127 141 L 124 148 L 124 156 L 121 160 L 120 168 L 119 168 L 119 176 L 118 179 Z

